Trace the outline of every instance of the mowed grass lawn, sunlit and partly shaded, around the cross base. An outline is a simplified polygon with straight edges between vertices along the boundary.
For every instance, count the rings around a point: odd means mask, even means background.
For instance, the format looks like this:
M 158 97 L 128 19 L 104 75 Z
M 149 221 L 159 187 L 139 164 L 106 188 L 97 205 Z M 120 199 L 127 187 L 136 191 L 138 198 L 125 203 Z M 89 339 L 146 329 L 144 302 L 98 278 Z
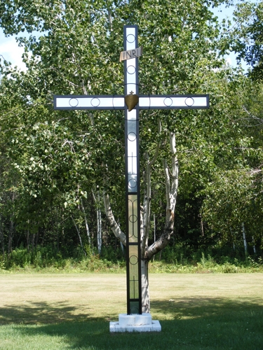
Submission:
M 109 333 L 125 274 L 0 274 L 0 349 L 263 349 L 263 274 L 151 274 L 158 333 Z

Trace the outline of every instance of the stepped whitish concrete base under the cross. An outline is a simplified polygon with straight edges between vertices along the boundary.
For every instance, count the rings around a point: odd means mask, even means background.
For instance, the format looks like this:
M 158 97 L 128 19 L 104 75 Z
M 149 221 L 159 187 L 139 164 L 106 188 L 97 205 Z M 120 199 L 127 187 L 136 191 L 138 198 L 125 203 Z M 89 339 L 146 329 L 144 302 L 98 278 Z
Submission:
M 151 314 L 119 314 L 119 322 L 109 323 L 109 332 L 161 332 L 161 325 Z

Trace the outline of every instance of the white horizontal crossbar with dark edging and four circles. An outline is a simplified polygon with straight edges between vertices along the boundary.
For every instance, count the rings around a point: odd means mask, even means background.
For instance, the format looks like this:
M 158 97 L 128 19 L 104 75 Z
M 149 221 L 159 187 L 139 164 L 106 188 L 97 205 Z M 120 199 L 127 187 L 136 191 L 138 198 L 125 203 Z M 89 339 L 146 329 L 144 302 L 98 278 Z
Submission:
M 208 109 L 208 94 L 140 94 L 139 109 Z M 123 95 L 55 95 L 54 109 L 125 109 Z

